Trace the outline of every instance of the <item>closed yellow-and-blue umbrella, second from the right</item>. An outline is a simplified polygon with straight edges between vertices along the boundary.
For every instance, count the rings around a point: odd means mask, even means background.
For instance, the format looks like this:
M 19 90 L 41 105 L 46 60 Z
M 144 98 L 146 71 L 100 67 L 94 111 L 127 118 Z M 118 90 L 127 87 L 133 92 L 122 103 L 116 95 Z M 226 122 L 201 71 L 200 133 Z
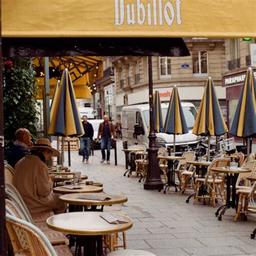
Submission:
M 223 114 L 220 110 L 219 100 L 211 77 L 205 84 L 203 99 L 200 103 L 196 122 L 192 133 L 208 137 L 208 160 L 210 160 L 211 136 L 220 136 L 228 132 Z

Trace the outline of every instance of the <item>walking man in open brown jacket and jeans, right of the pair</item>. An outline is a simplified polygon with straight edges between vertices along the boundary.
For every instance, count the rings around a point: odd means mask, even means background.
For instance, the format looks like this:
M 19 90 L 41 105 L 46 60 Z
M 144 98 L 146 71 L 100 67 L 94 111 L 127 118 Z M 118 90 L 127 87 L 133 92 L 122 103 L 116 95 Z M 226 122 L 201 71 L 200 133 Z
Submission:
M 102 150 L 102 160 L 100 163 L 104 163 L 104 161 L 107 160 L 107 164 L 110 164 L 111 137 L 113 134 L 113 139 L 115 140 L 116 136 L 114 134 L 114 126 L 111 122 L 109 122 L 109 117 L 105 115 L 103 119 L 104 122 L 99 124 L 99 131 L 96 142 L 99 142 L 100 136 L 100 149 Z M 105 149 L 107 150 L 107 156 Z

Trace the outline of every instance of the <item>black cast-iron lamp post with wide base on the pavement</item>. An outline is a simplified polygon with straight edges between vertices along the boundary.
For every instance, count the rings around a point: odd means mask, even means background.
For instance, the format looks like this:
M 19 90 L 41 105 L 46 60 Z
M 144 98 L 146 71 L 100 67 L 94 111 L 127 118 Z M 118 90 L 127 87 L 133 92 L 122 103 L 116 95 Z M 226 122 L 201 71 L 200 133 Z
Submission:
M 156 132 L 154 131 L 153 115 L 153 78 L 152 78 L 152 57 L 149 56 L 149 105 L 150 105 L 150 133 L 149 148 L 147 149 L 148 163 L 146 181 L 144 190 L 161 190 L 164 187 L 160 177 L 160 171 L 157 161 Z

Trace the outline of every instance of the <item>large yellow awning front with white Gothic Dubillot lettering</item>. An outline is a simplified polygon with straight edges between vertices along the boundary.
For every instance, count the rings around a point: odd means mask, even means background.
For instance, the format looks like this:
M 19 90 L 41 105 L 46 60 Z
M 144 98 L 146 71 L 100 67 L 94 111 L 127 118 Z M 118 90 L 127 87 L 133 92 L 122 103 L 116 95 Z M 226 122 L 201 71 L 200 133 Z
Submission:
M 2 0 L 3 37 L 256 37 L 255 0 Z

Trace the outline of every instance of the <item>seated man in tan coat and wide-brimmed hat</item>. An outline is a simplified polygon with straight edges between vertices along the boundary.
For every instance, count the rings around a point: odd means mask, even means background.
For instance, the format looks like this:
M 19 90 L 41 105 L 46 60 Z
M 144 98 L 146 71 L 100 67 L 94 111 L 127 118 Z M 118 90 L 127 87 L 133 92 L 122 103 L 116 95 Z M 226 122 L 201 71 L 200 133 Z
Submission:
M 48 139 L 38 139 L 35 146 L 29 147 L 31 154 L 15 165 L 13 183 L 31 213 L 52 210 L 55 214 L 65 211 L 65 204 L 58 200 L 59 195 L 52 192 L 52 179 L 45 164 L 51 156 L 58 156 Z

